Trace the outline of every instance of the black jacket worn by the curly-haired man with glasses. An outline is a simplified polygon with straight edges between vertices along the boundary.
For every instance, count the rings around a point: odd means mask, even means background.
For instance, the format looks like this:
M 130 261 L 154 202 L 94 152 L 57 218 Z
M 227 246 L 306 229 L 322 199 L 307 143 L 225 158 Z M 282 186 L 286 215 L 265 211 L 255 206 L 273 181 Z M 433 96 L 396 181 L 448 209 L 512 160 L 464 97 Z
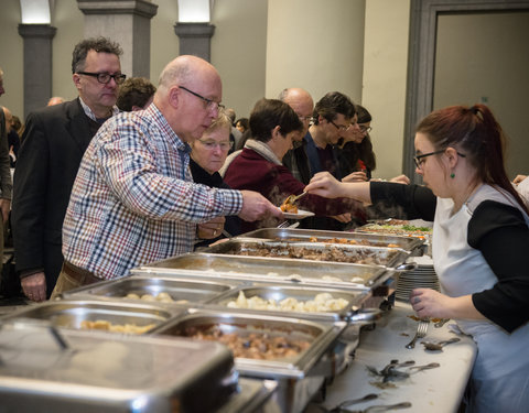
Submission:
M 17 160 L 12 229 L 17 271 L 44 271 L 47 295 L 63 263 L 63 220 L 77 170 L 98 124 L 79 99 L 29 115 Z

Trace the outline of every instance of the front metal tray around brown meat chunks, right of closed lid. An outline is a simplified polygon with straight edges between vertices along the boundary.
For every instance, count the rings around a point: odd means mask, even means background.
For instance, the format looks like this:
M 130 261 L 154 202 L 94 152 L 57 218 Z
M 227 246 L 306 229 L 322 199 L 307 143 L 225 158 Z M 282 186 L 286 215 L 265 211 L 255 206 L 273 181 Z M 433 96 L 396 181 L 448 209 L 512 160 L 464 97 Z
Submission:
M 235 356 L 235 366 L 241 376 L 278 382 L 272 398 L 282 413 L 298 413 L 303 411 L 324 383 L 325 377 L 333 371 L 334 360 L 323 356 L 333 350 L 345 327 L 344 322 L 313 322 L 234 309 L 219 313 L 216 309 L 190 308 L 187 314 L 156 327 L 152 334 L 190 337 L 213 328 L 225 338 L 228 338 L 226 335 L 236 337 L 244 348 L 252 348 L 253 344 L 260 343 L 256 340 L 262 337 L 256 338 L 251 334 L 264 334 L 264 339 L 280 337 L 290 344 L 306 341 L 309 347 L 292 357 L 264 360 Z M 257 352 L 261 354 L 261 350 Z

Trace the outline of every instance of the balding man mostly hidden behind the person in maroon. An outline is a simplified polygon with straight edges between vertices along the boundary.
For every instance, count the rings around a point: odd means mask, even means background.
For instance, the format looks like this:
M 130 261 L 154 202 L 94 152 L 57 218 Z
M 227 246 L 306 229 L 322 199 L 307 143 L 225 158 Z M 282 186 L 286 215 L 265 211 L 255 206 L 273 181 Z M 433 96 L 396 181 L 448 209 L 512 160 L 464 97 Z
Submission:
M 282 162 L 298 181 L 306 185 L 311 181 L 312 175 L 305 152 L 305 134 L 311 126 L 314 101 L 306 90 L 299 87 L 283 89 L 278 99 L 289 105 L 303 123 L 303 132 L 296 134 L 295 139 L 292 139 L 293 149 L 287 152 Z

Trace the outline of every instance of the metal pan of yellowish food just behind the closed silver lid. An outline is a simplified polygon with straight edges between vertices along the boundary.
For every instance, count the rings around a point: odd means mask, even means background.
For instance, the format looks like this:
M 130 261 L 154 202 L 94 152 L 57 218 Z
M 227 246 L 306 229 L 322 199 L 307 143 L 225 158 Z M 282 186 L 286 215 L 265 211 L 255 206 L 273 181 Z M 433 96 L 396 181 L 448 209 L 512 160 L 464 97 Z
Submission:
M 28 306 L 4 316 L 2 319 L 36 318 L 47 320 L 55 327 L 74 329 L 82 329 L 84 323 L 102 322 L 106 325 L 109 323 L 112 327 L 129 325 L 128 330 L 130 333 L 137 329 L 147 333 L 184 311 L 185 307 L 156 306 L 153 304 L 60 300 Z

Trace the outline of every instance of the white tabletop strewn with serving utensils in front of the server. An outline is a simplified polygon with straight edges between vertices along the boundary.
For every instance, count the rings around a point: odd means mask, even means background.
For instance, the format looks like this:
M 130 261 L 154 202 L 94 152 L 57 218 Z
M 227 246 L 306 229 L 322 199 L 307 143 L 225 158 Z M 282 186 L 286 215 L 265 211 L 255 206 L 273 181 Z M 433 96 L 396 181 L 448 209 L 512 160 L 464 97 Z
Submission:
M 446 346 L 443 351 L 425 351 L 422 340 L 440 341 L 456 336 L 452 333 L 452 322 L 449 322 L 440 328 L 430 323 L 427 337 L 418 339 L 414 349 L 407 349 L 404 346 L 417 330 L 418 322 L 409 317 L 413 314 L 409 304 L 397 302 L 377 322 L 375 329 L 364 330 L 355 359 L 327 387 L 325 401 L 321 404 L 334 407 L 345 400 L 376 393 L 376 400 L 354 404 L 348 409 L 361 410 L 370 405 L 411 402 L 412 406 L 402 412 L 457 412 L 476 356 L 476 346 L 472 338 L 460 335 L 457 337 L 461 341 Z M 391 387 L 385 389 L 374 385 L 373 383 L 381 382 L 381 378 L 370 373 L 366 366 L 381 370 L 393 359 L 400 362 L 413 360 L 414 366 L 439 362 L 440 367 L 419 372 L 402 369 L 412 372 L 410 378 L 391 381 Z M 316 413 L 321 410 L 311 404 L 305 412 Z

